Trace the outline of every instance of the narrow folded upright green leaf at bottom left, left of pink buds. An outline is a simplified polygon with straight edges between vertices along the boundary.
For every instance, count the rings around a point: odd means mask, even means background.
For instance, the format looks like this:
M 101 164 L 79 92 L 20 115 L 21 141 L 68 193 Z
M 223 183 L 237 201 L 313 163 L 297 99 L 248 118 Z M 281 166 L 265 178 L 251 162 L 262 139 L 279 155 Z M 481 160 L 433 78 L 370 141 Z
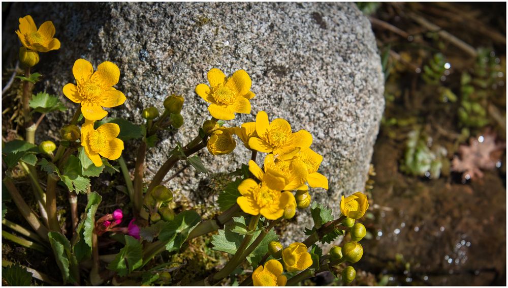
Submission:
M 56 264 L 60 268 L 63 277 L 63 283 L 77 283 L 78 261 L 71 251 L 69 240 L 58 232 L 48 233 L 49 243 L 56 258 Z

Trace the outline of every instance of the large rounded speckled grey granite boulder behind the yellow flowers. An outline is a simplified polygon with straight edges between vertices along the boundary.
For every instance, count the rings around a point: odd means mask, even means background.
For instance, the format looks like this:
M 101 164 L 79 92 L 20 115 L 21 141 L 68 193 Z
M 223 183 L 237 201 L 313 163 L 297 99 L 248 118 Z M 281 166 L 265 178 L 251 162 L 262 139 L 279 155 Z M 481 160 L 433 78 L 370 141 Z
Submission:
M 120 68 L 117 88 L 128 100 L 109 109 L 110 116 L 141 123 L 144 107 L 161 108 L 172 93 L 185 97 L 185 125 L 174 135 L 164 134 L 150 150 L 148 177 L 176 141 L 188 142 L 197 133 L 194 127 L 209 117 L 194 88 L 206 83 L 206 72 L 215 67 L 227 75 L 246 70 L 256 93 L 252 114 L 241 114 L 228 126 L 254 121 L 257 111 L 265 110 L 270 120 L 284 118 L 294 130 L 312 133 L 311 148 L 324 156 L 320 172 L 330 182 L 328 191 L 313 191 L 314 199 L 338 211 L 342 194 L 364 189 L 385 105 L 384 80 L 370 23 L 354 4 L 14 4 L 4 19 L 4 66 L 14 66 L 14 30 L 26 14 L 38 25 L 52 20 L 61 41 L 60 50 L 41 56 L 39 71 L 48 76 L 38 89 L 62 95 L 61 87 L 74 81 L 74 61 L 83 57 L 94 67 L 108 60 Z M 60 122 L 51 121 L 52 127 Z M 213 158 L 206 150 L 199 155 L 214 172 L 233 171 L 250 157 L 241 145 L 232 155 Z M 204 178 L 187 168 L 168 185 L 180 198 L 204 204 L 217 197 L 203 194 Z M 307 213 L 297 215 L 295 221 L 311 225 Z

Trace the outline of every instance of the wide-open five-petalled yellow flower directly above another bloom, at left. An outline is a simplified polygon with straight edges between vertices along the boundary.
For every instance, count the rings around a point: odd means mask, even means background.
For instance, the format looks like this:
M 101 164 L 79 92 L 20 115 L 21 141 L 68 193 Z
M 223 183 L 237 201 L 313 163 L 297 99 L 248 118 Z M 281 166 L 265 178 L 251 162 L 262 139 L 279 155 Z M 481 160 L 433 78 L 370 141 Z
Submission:
M 120 79 L 120 69 L 106 61 L 93 72 L 90 62 L 78 59 L 74 62 L 72 73 L 76 84 L 68 83 L 63 94 L 74 103 L 81 103 L 81 113 L 87 120 L 101 120 L 108 112 L 102 107 L 115 107 L 125 102 L 125 95 L 113 88 Z

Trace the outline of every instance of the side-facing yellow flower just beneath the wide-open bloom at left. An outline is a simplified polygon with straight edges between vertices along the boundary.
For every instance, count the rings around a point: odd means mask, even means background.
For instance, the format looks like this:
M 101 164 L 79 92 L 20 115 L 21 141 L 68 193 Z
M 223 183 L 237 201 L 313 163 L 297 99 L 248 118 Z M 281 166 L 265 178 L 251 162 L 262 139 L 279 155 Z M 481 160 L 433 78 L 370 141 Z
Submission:
M 116 138 L 120 133 L 120 127 L 114 123 L 101 125 L 97 130 L 93 129 L 94 121 L 85 120 L 81 126 L 81 146 L 85 153 L 97 167 L 102 165 L 102 157 L 116 160 L 123 150 L 123 141 Z M 99 156 L 100 155 L 100 156 Z

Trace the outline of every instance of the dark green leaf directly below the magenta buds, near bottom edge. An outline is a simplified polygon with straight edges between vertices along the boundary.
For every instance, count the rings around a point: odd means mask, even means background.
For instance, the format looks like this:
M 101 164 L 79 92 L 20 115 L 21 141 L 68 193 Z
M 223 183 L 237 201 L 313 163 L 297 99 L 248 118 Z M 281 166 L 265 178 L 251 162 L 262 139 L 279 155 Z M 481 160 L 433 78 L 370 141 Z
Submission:
M 125 246 L 116 254 L 115 260 L 108 269 L 123 277 L 138 269 L 143 264 L 143 246 L 136 238 L 125 235 Z

